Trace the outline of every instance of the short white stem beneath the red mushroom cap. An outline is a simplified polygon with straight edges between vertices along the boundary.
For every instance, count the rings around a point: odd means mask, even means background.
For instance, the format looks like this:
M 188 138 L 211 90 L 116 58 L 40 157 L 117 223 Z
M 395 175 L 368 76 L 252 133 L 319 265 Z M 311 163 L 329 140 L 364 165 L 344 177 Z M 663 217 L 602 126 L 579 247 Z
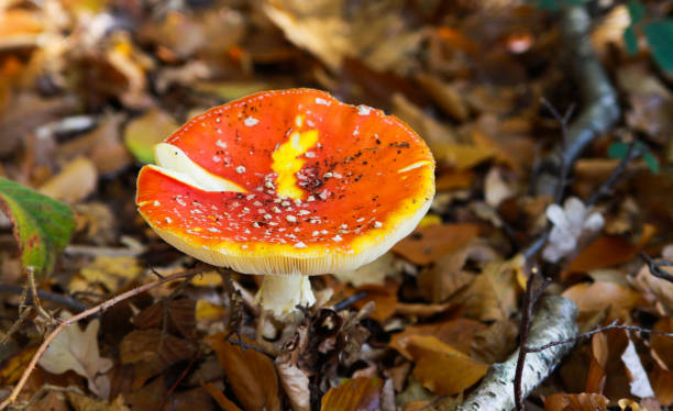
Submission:
M 277 319 L 295 312 L 297 306 L 312 306 L 316 297 L 308 276 L 301 274 L 266 275 L 255 302 L 269 310 Z

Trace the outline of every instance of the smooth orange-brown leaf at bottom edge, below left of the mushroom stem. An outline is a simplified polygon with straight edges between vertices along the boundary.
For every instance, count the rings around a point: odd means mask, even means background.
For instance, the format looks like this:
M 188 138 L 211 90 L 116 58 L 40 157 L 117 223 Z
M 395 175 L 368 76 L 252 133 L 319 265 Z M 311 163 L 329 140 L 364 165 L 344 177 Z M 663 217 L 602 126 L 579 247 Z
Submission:
M 224 333 L 206 338 L 227 374 L 231 389 L 246 411 L 279 411 L 278 376 L 274 363 L 264 354 L 224 341 Z M 244 338 L 245 341 L 245 338 Z M 251 341 L 245 341 L 252 344 Z

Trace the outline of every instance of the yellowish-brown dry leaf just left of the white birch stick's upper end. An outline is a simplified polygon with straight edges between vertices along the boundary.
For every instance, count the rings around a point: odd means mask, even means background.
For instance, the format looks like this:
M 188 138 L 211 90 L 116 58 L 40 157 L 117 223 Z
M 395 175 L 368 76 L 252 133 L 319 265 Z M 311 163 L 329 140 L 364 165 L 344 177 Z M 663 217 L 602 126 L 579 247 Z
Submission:
M 521 255 L 486 264 L 482 274 L 457 297 L 465 306 L 465 314 L 482 321 L 508 320 L 517 310 L 520 292 L 517 273 L 522 265 Z

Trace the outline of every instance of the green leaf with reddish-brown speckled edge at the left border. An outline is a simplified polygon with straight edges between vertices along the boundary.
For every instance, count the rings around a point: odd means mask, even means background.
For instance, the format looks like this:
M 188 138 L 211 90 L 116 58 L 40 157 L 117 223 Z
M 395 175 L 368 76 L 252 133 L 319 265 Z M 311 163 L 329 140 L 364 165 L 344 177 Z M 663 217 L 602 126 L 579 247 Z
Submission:
M 75 227 L 70 208 L 1 177 L 0 207 L 14 224 L 23 267 L 33 267 L 37 276 L 48 275 Z

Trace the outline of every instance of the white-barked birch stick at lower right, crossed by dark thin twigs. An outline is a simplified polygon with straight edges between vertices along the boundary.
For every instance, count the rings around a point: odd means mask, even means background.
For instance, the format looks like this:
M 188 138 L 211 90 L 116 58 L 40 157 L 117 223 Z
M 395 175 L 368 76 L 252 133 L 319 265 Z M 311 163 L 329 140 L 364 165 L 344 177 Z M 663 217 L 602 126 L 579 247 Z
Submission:
M 560 296 L 542 298 L 528 337 L 529 347 L 543 346 L 555 341 L 572 340 L 577 335 L 577 308 Z M 521 392 L 523 398 L 544 380 L 567 354 L 573 344 L 551 346 L 539 353 L 526 356 Z M 479 386 L 460 404 L 455 411 L 510 411 L 515 408 L 514 380 L 519 351 L 505 363 L 490 366 Z

